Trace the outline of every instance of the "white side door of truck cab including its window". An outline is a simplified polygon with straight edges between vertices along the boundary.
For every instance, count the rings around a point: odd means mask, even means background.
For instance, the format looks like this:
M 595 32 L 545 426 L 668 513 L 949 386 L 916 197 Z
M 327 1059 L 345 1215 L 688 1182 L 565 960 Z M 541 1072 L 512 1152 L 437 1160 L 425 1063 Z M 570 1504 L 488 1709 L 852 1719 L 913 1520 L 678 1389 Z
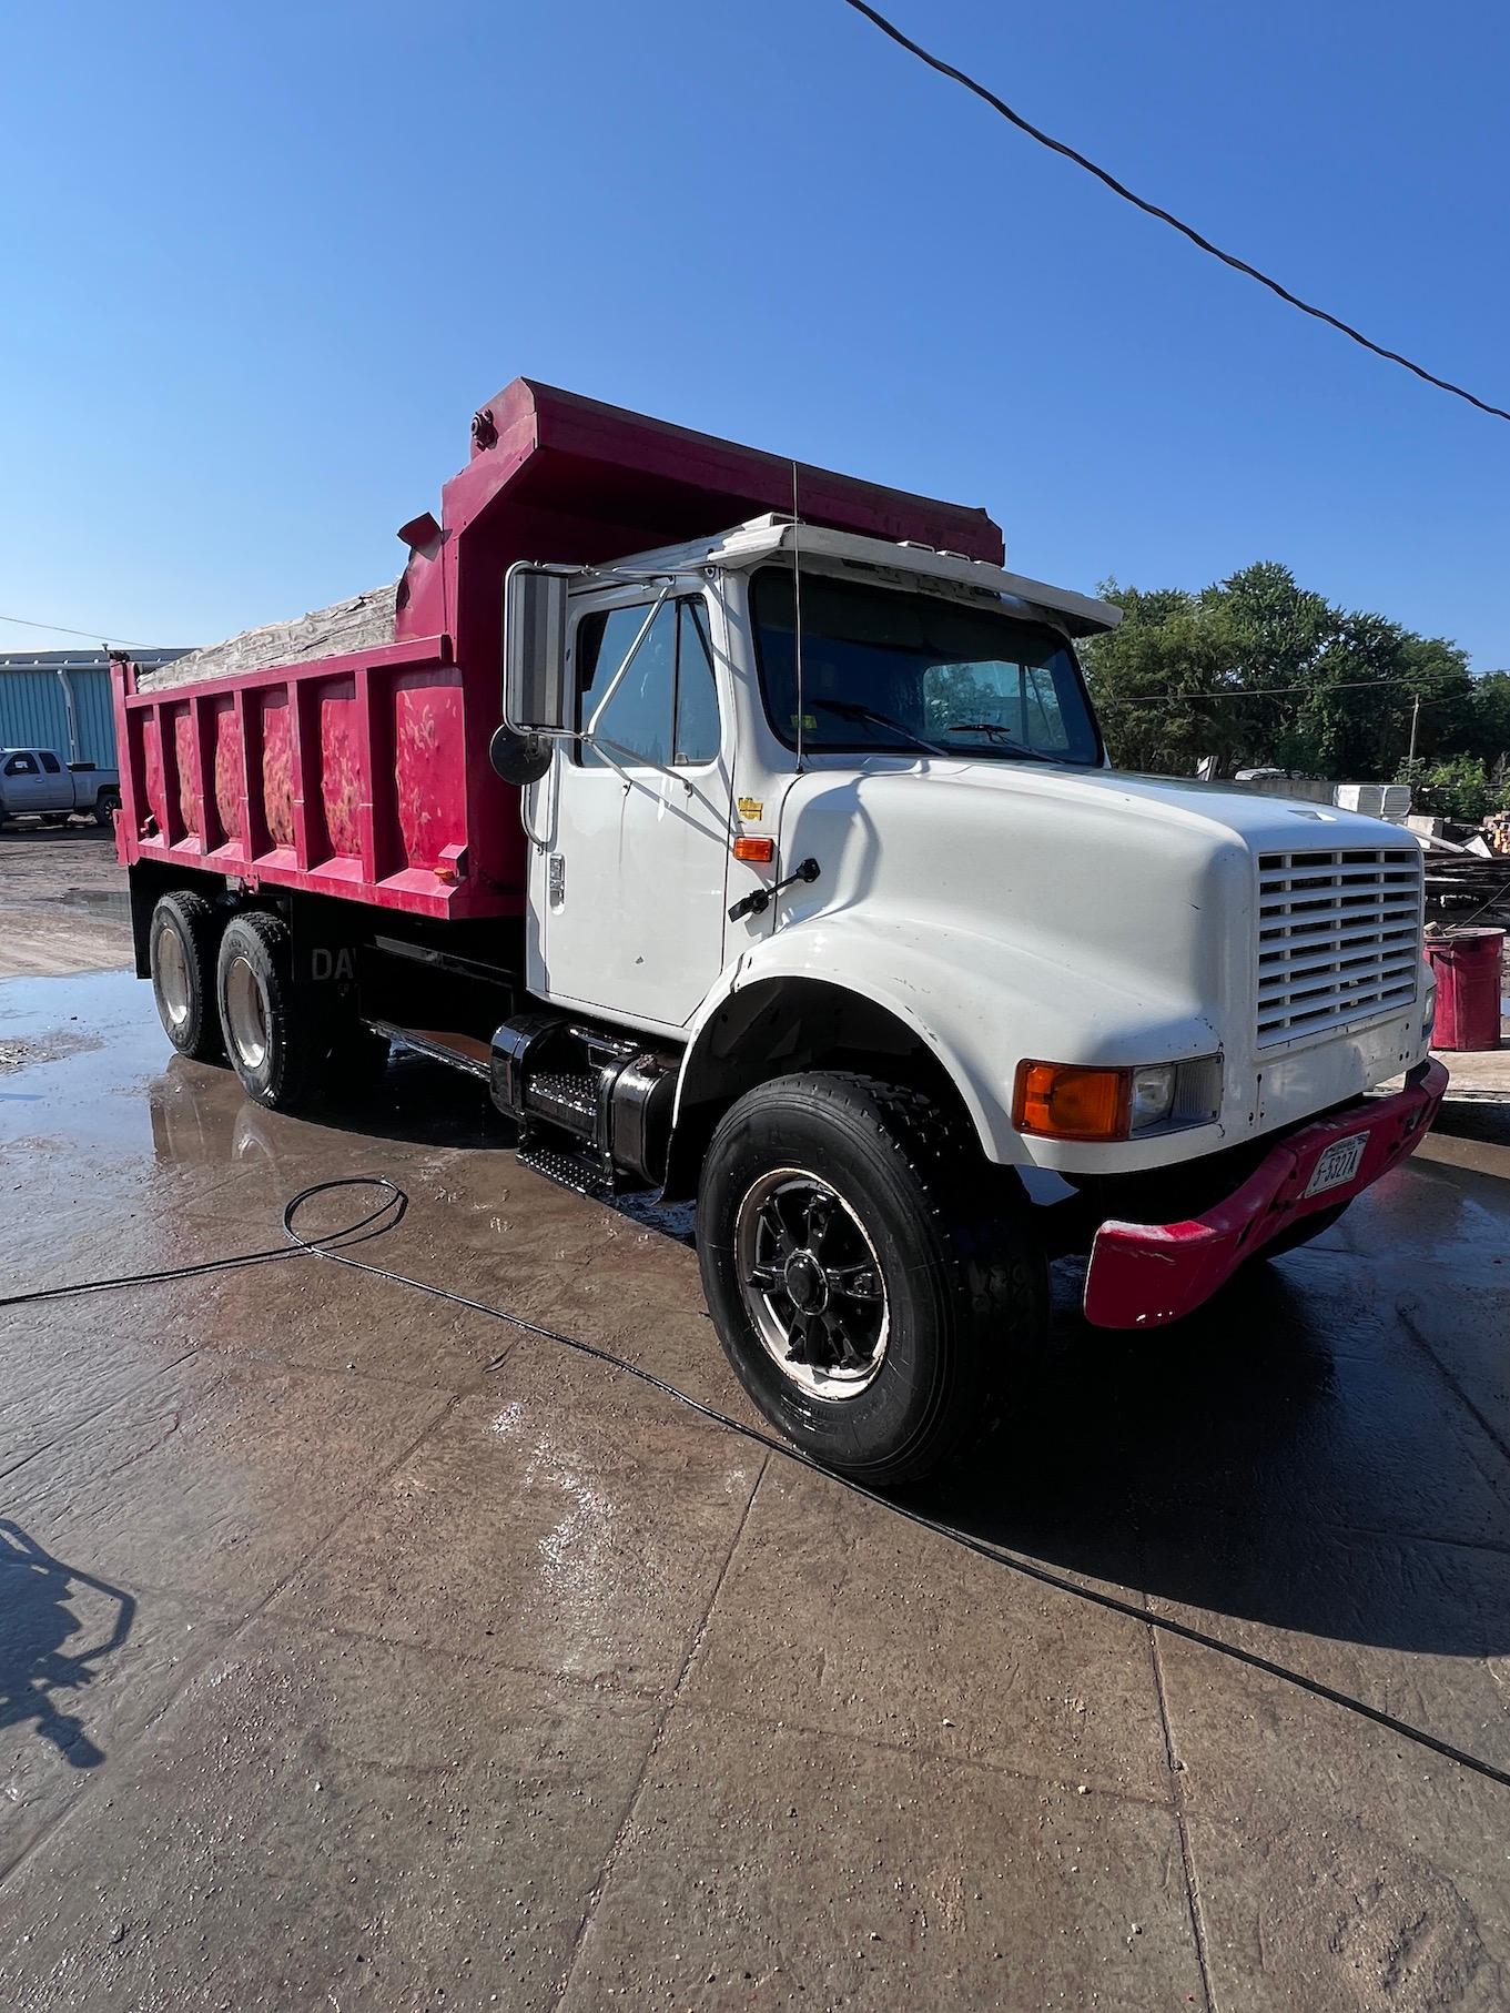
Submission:
M 570 650 L 582 739 L 540 785 L 554 805 L 532 866 L 536 990 L 678 1029 L 723 970 L 731 749 L 709 604 L 600 604 Z

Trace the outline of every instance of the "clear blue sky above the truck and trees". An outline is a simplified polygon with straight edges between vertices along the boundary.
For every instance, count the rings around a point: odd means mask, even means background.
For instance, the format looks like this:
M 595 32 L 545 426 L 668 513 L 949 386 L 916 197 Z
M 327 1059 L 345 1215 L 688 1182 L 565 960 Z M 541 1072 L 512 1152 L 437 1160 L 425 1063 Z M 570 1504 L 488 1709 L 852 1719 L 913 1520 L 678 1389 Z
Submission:
M 1027 117 L 1510 405 L 1510 14 L 892 0 Z M 393 578 L 530 372 L 1307 586 L 1510 664 L 1510 425 L 1140 217 L 840 0 L 12 12 L 0 610 L 207 642 Z M 0 626 L 0 648 L 46 630 Z

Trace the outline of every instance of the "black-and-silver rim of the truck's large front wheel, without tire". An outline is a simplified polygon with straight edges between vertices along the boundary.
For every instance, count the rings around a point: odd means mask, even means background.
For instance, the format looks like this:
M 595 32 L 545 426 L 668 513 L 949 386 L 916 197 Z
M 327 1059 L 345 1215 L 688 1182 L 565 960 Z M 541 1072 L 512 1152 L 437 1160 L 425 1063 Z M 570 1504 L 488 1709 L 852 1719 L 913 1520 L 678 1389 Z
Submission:
M 834 1401 L 870 1389 L 892 1327 L 886 1274 L 838 1188 L 803 1168 L 753 1182 L 735 1216 L 735 1270 L 761 1347 L 789 1383 Z

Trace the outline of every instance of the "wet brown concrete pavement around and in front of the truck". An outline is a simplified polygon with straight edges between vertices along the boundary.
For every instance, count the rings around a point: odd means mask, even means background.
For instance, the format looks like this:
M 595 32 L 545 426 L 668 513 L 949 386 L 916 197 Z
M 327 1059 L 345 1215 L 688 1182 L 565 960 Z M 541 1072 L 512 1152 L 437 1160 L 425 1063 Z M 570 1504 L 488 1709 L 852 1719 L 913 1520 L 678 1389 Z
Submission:
M 270 1117 L 121 972 L 0 986 L 0 1292 L 389 1174 L 360 1256 L 749 1417 L 685 1234 L 461 1079 Z M 908 1504 L 1134 1614 L 312 1258 L 0 1310 L 0 2003 L 1502 2007 L 1510 1792 L 1222 1651 L 1510 1769 L 1484 1151 L 1166 1337 L 1061 1268 Z

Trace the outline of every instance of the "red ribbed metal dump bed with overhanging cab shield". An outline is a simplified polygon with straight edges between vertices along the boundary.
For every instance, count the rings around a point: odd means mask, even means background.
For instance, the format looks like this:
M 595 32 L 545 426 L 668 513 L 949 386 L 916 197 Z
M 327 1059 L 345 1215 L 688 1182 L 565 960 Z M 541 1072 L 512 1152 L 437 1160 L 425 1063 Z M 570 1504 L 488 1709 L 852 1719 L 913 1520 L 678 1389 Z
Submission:
M 1003 562 L 985 511 L 799 469 L 801 515 Z M 230 874 L 421 916 L 523 908 L 517 791 L 487 761 L 503 574 L 602 562 L 791 509 L 791 463 L 515 378 L 473 419 L 441 523 L 411 548 L 395 642 L 139 692 L 117 670 L 121 860 Z

